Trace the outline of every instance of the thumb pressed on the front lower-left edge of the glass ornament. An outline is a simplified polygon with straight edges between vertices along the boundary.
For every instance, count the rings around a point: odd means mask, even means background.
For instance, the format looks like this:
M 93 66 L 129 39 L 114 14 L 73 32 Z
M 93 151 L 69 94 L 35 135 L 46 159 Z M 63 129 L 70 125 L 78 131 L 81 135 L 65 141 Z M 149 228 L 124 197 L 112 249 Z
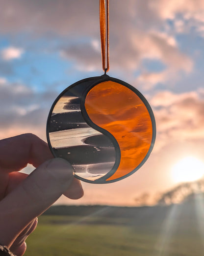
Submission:
M 0 244 L 8 247 L 21 230 L 48 209 L 74 179 L 73 168 L 63 159 L 52 159 L 36 168 L 16 189 L 0 201 Z M 78 184 L 77 184 L 78 186 Z M 73 186 L 71 186 L 73 187 Z M 81 197 L 81 187 L 75 191 Z

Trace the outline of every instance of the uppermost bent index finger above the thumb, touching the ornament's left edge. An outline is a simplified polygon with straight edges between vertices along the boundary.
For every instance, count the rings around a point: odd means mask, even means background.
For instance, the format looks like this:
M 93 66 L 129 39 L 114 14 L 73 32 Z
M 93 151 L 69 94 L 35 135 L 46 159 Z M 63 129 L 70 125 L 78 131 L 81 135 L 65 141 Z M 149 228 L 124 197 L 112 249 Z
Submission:
M 27 163 L 38 167 L 53 156 L 48 144 L 32 133 L 0 140 L 0 170 L 19 171 Z

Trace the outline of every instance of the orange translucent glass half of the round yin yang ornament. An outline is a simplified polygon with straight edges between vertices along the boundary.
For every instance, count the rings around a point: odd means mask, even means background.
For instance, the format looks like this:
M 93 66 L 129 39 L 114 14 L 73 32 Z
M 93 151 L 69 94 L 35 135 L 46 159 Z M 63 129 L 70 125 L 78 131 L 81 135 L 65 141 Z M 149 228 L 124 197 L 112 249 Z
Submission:
M 143 101 L 128 87 L 106 81 L 89 91 L 85 109 L 93 123 L 115 137 L 121 150 L 119 167 L 107 181 L 133 171 L 152 142 L 152 121 Z

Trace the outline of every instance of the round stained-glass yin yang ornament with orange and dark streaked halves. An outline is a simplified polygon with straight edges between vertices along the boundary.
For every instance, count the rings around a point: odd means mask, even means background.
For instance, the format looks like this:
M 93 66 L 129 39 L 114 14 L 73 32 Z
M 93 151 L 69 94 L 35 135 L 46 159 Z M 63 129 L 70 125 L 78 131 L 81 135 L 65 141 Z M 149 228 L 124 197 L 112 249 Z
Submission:
M 138 170 L 155 141 L 153 111 L 134 87 L 104 74 L 69 86 L 54 101 L 47 139 L 76 178 L 110 183 Z

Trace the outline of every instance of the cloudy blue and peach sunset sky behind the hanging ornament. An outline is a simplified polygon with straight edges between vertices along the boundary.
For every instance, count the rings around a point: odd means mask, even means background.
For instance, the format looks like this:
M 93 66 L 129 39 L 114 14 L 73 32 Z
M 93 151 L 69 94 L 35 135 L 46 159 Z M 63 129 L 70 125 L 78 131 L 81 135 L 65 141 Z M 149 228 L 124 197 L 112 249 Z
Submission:
M 204 161 L 204 1 L 110 0 L 109 11 L 108 75 L 148 99 L 155 145 L 128 178 L 83 182 L 83 198 L 58 203 L 135 205 L 147 193 L 154 200 L 178 185 L 180 160 Z M 99 1 L 0 0 L 0 139 L 31 132 L 46 140 L 54 99 L 102 74 Z

